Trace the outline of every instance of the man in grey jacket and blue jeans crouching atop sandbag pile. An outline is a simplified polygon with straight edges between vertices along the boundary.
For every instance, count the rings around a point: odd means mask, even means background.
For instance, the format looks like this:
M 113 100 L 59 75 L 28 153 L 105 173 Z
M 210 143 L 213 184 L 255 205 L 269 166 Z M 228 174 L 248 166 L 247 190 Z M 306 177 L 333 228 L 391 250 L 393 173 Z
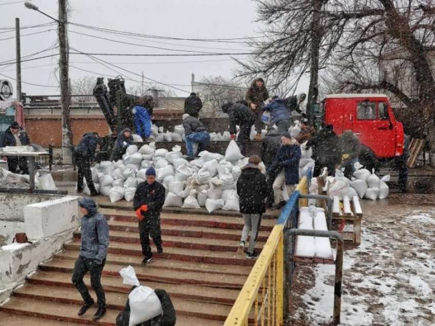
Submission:
M 198 144 L 197 152 L 201 153 L 207 149 L 208 143 L 210 142 L 210 135 L 198 118 L 190 116 L 187 113 L 183 114 L 183 127 L 186 135 L 187 160 L 192 160 L 195 155 L 195 153 L 193 153 L 193 143 Z

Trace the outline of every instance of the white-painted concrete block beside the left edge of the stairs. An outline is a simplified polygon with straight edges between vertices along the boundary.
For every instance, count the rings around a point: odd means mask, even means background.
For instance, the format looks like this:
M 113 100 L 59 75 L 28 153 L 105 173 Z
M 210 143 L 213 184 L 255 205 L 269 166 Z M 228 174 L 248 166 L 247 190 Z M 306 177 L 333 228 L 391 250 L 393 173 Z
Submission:
M 51 237 L 80 226 L 77 196 L 34 203 L 24 208 L 24 222 L 29 240 Z

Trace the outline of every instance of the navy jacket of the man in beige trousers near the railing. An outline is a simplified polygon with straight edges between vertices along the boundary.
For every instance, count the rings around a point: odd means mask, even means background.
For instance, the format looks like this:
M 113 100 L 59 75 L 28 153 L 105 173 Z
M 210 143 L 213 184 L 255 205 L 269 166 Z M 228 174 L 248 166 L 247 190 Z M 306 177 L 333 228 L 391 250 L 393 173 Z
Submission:
M 286 176 L 286 185 L 296 185 L 299 182 L 299 160 L 301 156 L 299 143 L 292 139 L 290 145 L 281 145 L 272 164 L 267 169 L 268 175 L 276 177 L 281 170 Z

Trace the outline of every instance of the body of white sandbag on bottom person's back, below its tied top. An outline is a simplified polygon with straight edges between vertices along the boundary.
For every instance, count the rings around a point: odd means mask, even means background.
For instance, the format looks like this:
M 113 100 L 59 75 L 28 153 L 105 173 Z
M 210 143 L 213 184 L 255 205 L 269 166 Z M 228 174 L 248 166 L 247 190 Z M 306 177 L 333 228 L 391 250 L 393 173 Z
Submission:
M 128 294 L 128 301 L 130 304 L 128 326 L 139 325 L 163 314 L 162 303 L 151 288 L 139 286 L 133 289 Z

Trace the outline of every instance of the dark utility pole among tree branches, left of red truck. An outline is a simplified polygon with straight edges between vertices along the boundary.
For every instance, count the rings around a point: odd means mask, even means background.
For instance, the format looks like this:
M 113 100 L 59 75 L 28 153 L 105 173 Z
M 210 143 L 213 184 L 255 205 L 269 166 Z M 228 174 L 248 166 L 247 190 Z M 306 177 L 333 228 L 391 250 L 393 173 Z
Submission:
M 317 103 L 319 95 L 319 52 L 321 42 L 320 31 L 320 10 L 322 2 L 312 0 L 313 18 L 311 21 L 311 58 L 310 58 L 310 86 L 308 89 L 307 115 L 311 121 L 314 121 L 314 104 Z

